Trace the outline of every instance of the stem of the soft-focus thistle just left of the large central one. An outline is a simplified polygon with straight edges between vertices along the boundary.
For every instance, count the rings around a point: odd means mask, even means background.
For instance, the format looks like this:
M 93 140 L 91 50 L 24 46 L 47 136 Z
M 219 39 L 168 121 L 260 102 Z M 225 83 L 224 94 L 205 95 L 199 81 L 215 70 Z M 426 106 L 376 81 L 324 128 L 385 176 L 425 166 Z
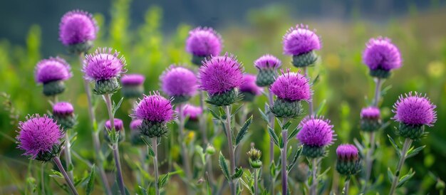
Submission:
M 178 141 L 181 144 L 181 155 L 182 155 L 182 161 L 183 161 L 183 167 L 186 172 L 187 181 L 192 181 L 192 172 L 190 170 L 190 162 L 189 162 L 189 154 L 187 152 L 187 145 L 185 142 L 185 117 L 183 117 L 183 105 L 178 104 L 178 129 L 180 132 L 180 136 L 178 136 Z M 187 183 L 188 183 L 187 182 Z M 187 194 L 192 194 L 192 190 L 190 189 L 190 185 L 186 184 L 187 186 Z

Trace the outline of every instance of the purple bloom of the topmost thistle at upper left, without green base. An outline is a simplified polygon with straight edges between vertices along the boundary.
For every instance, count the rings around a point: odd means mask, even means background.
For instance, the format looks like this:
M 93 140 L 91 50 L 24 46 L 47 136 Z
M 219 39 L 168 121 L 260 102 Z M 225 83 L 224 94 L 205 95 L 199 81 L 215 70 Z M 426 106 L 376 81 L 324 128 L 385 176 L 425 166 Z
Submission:
M 86 11 L 68 11 L 59 23 L 59 40 L 65 46 L 94 41 L 99 27 Z

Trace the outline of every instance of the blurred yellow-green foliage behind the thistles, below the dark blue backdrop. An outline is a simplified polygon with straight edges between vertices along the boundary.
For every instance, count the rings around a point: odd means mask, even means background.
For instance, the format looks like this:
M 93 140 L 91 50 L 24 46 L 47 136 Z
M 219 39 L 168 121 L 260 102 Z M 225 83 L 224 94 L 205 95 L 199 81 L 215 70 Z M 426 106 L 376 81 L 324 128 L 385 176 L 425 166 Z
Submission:
M 162 10 L 152 6 L 144 15 L 145 23 L 136 29 L 130 29 L 129 4 L 130 0 L 113 2 L 108 26 L 105 26 L 103 15 L 95 14 L 95 19 L 100 25 L 95 46 L 112 47 L 123 53 L 128 61 L 128 72 L 142 73 L 147 77 L 145 89 L 148 93 L 159 88 L 159 75 L 168 65 L 190 64 L 191 56 L 185 52 L 185 38 L 194 26 L 181 24 L 175 32 L 166 34 L 160 30 Z M 407 172 L 408 167 L 413 167 L 416 172 L 415 178 L 409 181 L 406 192 L 436 194 L 437 179 L 446 179 L 444 177 L 446 169 L 442 168 L 442 163 L 446 161 L 446 132 L 443 131 L 446 122 L 442 120 L 446 113 L 446 34 L 444 33 L 446 11 L 432 9 L 418 12 L 415 6 L 410 6 L 408 9 L 410 9 L 408 16 L 375 23 L 359 19 L 359 13 L 356 12 L 348 21 L 291 19 L 289 9 L 274 5 L 249 12 L 247 14 L 249 26 L 227 26 L 217 29 L 224 38 L 224 51 L 237 55 L 249 73 L 256 73 L 253 61 L 265 53 L 281 58 L 283 68 L 291 68 L 291 58 L 282 55 L 281 37 L 287 28 L 296 23 L 306 23 L 310 28 L 317 29 L 323 41 L 323 48 L 318 52 L 321 58 L 315 67 L 310 68 L 310 74 L 312 78 L 316 75 L 320 77 L 313 88 L 315 105 L 318 107 L 321 102 L 326 102 L 323 115 L 331 119 L 338 135 L 335 146 L 331 147 L 329 156 L 323 162 L 324 168 L 332 167 L 328 172 L 330 177 L 326 179 L 328 184 L 332 184 L 329 186 L 334 186 L 331 188 L 334 191 L 340 190 L 336 189 L 336 184 L 341 183 L 337 174 L 333 172 L 334 149 L 337 144 L 353 142 L 354 138 L 361 139 L 358 133 L 359 112 L 361 107 L 368 105 L 373 95 L 373 80 L 368 77 L 368 69 L 361 63 L 361 53 L 368 38 L 375 36 L 392 38 L 399 46 L 404 59 L 403 68 L 395 70 L 393 76 L 384 83 L 385 87 L 391 86 L 390 90 L 383 94 L 383 102 L 380 104 L 384 119 L 387 121 L 393 116 L 392 105 L 398 95 L 409 91 L 427 93 L 437 105 L 438 120 L 434 127 L 429 128 L 430 135 L 420 142 L 415 142 L 415 145 L 425 144 L 427 147 L 418 156 L 409 159 L 404 168 L 403 172 Z M 58 23 L 54 23 L 54 26 L 57 25 Z M 3 168 L 0 171 L 0 188 L 2 189 L 25 186 L 26 173 L 23 170 L 28 167 L 28 161 L 20 156 L 21 152 L 16 149 L 16 143 L 13 142 L 17 124 L 14 122 L 14 117 L 10 117 L 15 114 L 11 115 L 11 112 L 19 112 L 19 120 L 24 120 L 28 114 L 44 114 L 50 109 L 48 99 L 41 94 L 42 86 L 36 85 L 33 80 L 34 65 L 41 58 L 49 57 L 41 56 L 39 51 L 43 47 L 45 43 L 41 42 L 41 28 L 37 25 L 29 28 L 26 46 L 13 46 L 7 40 L 0 41 L 0 92 L 10 95 L 10 98 L 2 95 L 0 100 L 5 104 L 10 100 L 9 105 L 14 107 L 12 111 L 6 106 L 0 109 L 0 167 Z M 73 68 L 74 77 L 67 82 L 68 90 L 59 98 L 73 102 L 79 115 L 79 125 L 76 128 L 78 139 L 73 149 L 83 157 L 91 159 L 93 152 L 89 149 L 90 125 L 85 114 L 87 103 L 81 81 L 80 62 L 76 56 L 70 56 L 66 51 L 54 53 L 54 56 L 56 55 L 66 58 Z M 296 68 L 291 69 L 296 70 Z M 114 98 L 118 100 L 120 94 L 114 95 Z M 197 102 L 196 99 L 195 101 Z M 258 97 L 255 105 L 249 105 L 254 115 L 254 123 L 249 130 L 251 137 L 245 140 L 242 151 L 249 149 L 249 142 L 255 142 L 264 153 L 263 156 L 268 157 L 266 124 L 260 119 L 257 111 L 257 107 L 263 109 L 265 101 L 266 97 Z M 123 119 L 127 125 L 130 122 L 128 117 L 130 108 L 130 102 L 126 102 L 117 112 L 117 117 Z M 96 115 L 100 120 L 106 119 L 102 101 L 98 101 Z M 294 122 L 294 125 L 297 122 Z M 394 125 L 392 123 L 378 135 L 380 146 L 375 154 L 377 159 L 373 178 L 382 182 L 375 189 L 381 192 L 390 186 L 385 175 L 387 167 L 394 169 L 397 163 L 396 154 L 387 140 L 388 134 L 395 135 Z M 224 145 L 222 142 L 224 139 L 219 137 L 215 139 L 214 145 L 217 151 Z M 290 145 L 296 148 L 296 141 Z M 169 155 L 177 159 L 178 151 L 179 149 L 174 147 L 170 153 L 166 151 L 167 153 L 161 154 L 160 159 L 167 159 Z M 264 161 L 266 164 L 266 158 Z M 241 162 L 247 167 L 247 161 Z M 33 166 L 38 167 L 38 163 L 34 163 Z M 215 172 L 219 173 L 217 164 L 214 164 L 214 167 Z M 5 170 L 9 170 L 10 173 Z M 78 172 L 87 172 L 87 169 Z M 354 184 L 353 182 L 352 192 L 358 191 Z M 170 190 L 177 190 L 178 185 L 174 181 Z

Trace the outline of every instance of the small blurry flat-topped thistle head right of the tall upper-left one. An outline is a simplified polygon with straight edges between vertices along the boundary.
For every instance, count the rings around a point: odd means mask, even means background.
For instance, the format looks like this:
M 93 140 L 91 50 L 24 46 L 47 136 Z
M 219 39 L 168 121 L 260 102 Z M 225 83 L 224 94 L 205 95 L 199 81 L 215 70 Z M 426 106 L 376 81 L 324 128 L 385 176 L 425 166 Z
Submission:
M 123 96 L 127 98 L 138 98 L 144 93 L 144 75 L 129 74 L 123 75 L 121 84 L 123 84 Z

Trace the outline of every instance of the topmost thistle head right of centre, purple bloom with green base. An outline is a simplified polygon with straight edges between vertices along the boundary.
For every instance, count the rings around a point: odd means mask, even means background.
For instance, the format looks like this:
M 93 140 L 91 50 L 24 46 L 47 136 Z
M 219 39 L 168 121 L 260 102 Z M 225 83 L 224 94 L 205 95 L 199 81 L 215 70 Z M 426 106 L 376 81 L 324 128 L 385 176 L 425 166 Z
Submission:
M 293 56 L 293 65 L 305 67 L 317 60 L 315 50 L 321 49 L 321 39 L 304 24 L 291 27 L 283 38 L 284 54 Z

